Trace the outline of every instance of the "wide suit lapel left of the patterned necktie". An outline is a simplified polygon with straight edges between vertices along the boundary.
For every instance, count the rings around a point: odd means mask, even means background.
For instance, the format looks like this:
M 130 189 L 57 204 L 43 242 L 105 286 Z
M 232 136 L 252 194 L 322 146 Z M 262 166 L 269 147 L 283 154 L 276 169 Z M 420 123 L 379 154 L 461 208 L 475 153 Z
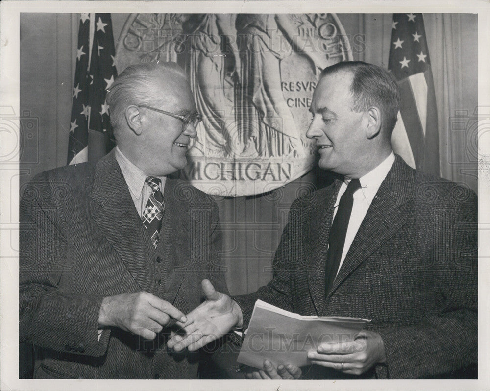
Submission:
M 119 254 L 141 290 L 157 294 L 151 264 L 154 248 L 134 207 L 114 151 L 97 163 L 92 200 L 97 203 L 93 218 L 102 235 Z

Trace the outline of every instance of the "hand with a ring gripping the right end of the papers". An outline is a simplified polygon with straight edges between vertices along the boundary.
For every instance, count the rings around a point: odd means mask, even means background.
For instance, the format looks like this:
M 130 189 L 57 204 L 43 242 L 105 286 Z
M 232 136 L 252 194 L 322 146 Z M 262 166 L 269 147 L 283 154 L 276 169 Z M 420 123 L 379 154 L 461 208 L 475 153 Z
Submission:
M 354 341 L 322 343 L 308 352 L 313 364 L 360 375 L 376 363 L 386 361 L 385 344 L 378 333 L 361 331 Z

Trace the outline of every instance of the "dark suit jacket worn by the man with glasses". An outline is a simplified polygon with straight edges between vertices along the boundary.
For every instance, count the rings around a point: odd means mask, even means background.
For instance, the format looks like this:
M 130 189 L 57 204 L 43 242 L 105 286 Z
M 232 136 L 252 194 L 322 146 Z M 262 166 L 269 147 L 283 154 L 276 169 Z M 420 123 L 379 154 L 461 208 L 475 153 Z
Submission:
M 155 250 L 113 152 L 25 186 L 20 336 L 34 345 L 35 377 L 196 378 L 202 352 L 166 351 L 170 328 L 154 341 L 107 328 L 98 341 L 106 296 L 146 291 L 188 313 L 201 302 L 203 278 L 227 292 L 216 203 L 172 178 L 164 202 Z

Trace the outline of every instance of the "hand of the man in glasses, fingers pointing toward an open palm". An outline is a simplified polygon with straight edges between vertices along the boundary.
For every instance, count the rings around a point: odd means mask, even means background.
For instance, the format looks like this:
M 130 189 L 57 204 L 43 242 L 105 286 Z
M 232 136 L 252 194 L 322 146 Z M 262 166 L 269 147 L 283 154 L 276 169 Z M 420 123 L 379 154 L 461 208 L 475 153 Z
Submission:
M 102 300 L 98 324 L 119 327 L 152 340 L 171 318 L 187 320 L 183 312 L 151 293 L 123 293 Z

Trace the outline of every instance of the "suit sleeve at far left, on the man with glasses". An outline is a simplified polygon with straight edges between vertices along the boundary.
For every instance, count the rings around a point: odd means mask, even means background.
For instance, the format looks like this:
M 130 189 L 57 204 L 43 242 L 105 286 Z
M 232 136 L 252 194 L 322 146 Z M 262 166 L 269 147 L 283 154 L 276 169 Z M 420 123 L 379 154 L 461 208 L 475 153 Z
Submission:
M 98 314 L 103 297 L 60 288 L 67 262 L 63 214 L 72 189 L 45 174 L 25 188 L 20 202 L 20 339 L 71 354 L 105 354 L 109 330 L 98 341 Z M 69 209 L 69 208 L 68 208 Z

